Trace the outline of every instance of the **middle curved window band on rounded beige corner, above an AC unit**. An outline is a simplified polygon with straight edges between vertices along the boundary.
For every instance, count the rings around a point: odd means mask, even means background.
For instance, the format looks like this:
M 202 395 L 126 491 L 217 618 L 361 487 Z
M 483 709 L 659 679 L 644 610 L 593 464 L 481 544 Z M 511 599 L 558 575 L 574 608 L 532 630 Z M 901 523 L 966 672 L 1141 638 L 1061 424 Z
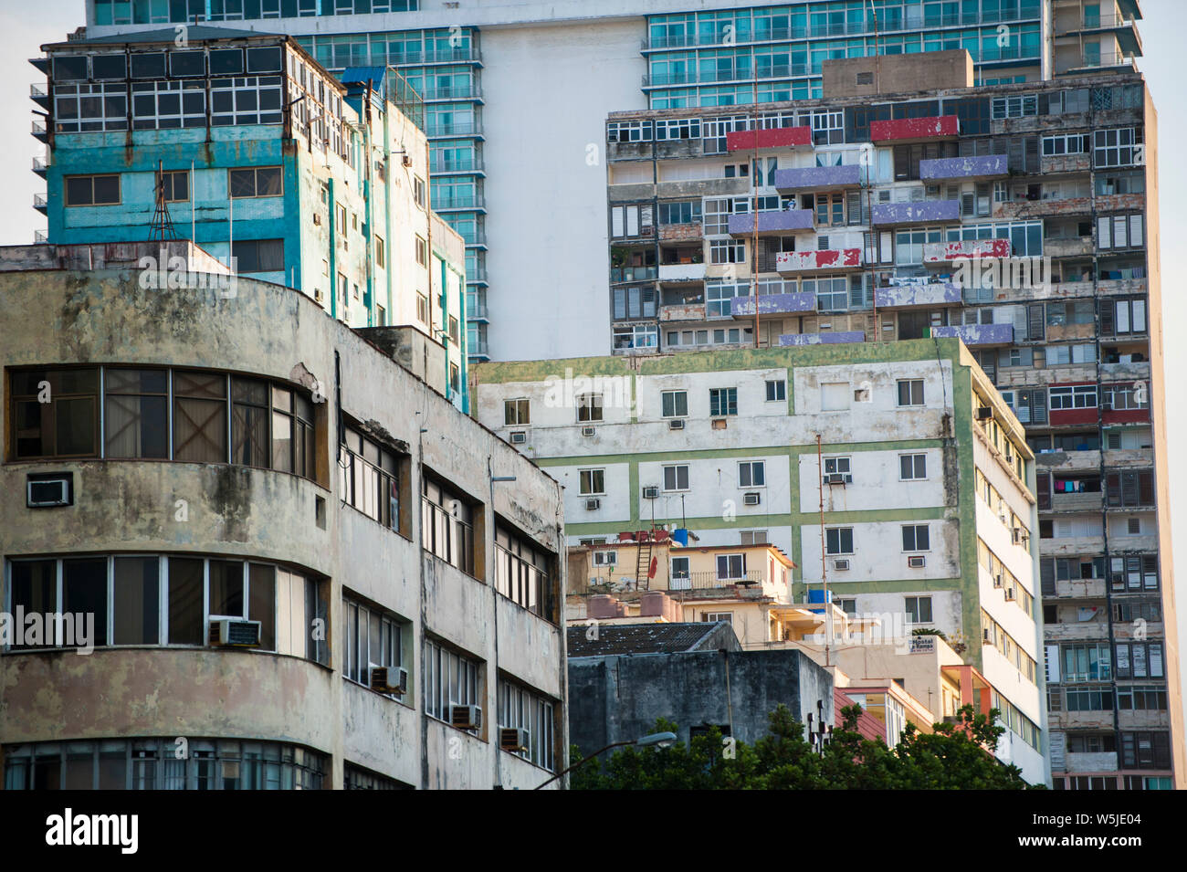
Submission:
M 207 645 L 210 620 L 236 618 L 260 622 L 261 650 L 329 663 L 310 632 L 328 615 L 326 585 L 274 564 L 116 554 L 13 560 L 9 572 L 9 610 L 94 613 L 96 647 Z

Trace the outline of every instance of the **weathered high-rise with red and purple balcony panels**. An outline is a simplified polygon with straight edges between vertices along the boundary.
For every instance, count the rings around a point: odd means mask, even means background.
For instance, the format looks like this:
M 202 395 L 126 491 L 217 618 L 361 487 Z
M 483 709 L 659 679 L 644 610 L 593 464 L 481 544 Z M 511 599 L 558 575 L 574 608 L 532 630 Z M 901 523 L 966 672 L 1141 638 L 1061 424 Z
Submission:
M 1181 784 L 1155 110 L 1132 70 L 961 53 L 612 114 L 612 352 L 960 337 L 1036 454 L 1054 784 Z

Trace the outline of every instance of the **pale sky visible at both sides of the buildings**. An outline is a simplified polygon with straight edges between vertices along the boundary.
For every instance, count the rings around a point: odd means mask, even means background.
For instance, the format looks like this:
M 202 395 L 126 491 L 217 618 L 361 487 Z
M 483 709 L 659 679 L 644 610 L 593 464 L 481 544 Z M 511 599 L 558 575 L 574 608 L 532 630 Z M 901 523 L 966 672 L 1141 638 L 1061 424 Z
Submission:
M 694 4 L 690 4 L 693 6 Z M 1182 33 L 1187 32 L 1187 2 L 1142 0 L 1144 19 L 1138 28 L 1144 55 L 1138 66 L 1145 75 L 1159 112 L 1160 238 L 1162 256 L 1162 324 L 1167 337 L 1166 373 L 1187 373 L 1187 342 L 1179 339 L 1175 324 L 1187 324 L 1187 294 L 1176 291 L 1187 274 L 1187 160 L 1178 147 L 1187 142 L 1187 75 L 1182 65 Z M 33 231 L 45 229 L 45 218 L 33 210 L 33 195 L 45 183 L 32 172 L 32 159 L 44 146 L 30 135 L 37 106 L 28 100 L 28 85 L 44 77 L 28 64 L 45 43 L 63 42 L 85 23 L 84 0 L 0 0 L 0 192 L 7 206 L 0 209 L 0 246 L 30 244 Z M 1185 380 L 1187 382 L 1187 380 Z M 1185 382 L 1167 386 L 1167 440 L 1170 446 L 1170 516 L 1174 550 L 1179 556 L 1175 599 L 1179 609 L 1180 663 L 1187 667 L 1187 393 Z

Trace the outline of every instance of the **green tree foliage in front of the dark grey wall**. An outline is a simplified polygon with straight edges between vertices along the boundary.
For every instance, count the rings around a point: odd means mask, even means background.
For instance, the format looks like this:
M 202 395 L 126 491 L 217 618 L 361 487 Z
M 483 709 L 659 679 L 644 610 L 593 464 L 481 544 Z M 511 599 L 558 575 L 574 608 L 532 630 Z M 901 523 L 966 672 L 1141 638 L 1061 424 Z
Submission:
M 1022 790 L 1017 766 L 994 756 L 1004 727 L 964 706 L 957 724 L 920 733 L 908 724 L 899 745 L 887 747 L 857 732 L 861 706 L 842 709 L 844 723 L 823 752 L 804 738 L 787 706 L 768 715 L 767 734 L 748 745 L 723 739 L 716 727 L 671 747 L 626 747 L 607 759 L 582 763 L 570 775 L 573 790 Z M 678 732 L 660 719 L 655 732 Z M 573 763 L 580 760 L 577 749 Z

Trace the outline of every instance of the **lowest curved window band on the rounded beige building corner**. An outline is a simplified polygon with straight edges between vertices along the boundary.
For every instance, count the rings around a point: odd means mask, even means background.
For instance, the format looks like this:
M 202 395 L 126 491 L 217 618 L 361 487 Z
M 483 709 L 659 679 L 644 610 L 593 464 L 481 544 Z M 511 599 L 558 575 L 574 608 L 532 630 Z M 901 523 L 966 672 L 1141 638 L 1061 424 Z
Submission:
M 328 757 L 279 741 L 43 741 L 5 747 L 5 790 L 322 790 Z

